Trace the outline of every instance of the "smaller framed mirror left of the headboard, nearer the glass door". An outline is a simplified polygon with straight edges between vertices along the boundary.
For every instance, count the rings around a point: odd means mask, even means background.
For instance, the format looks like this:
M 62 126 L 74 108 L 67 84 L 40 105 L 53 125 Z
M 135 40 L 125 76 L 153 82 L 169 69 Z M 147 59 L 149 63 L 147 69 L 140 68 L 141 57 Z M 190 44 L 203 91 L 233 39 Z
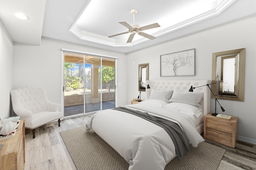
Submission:
M 146 80 L 149 80 L 149 63 L 139 64 L 139 91 L 146 92 Z

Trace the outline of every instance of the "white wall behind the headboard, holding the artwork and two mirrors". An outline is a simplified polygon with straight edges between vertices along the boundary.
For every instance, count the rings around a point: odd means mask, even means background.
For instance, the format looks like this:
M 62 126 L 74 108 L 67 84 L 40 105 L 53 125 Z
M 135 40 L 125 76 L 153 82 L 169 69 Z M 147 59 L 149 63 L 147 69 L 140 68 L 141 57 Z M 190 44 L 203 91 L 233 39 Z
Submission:
M 127 55 L 127 100 L 138 96 L 138 64 L 149 63 L 151 80 L 212 80 L 212 53 L 246 48 L 244 102 L 219 100 L 225 112 L 217 106 L 217 113 L 239 117 L 239 139 L 256 144 L 256 113 L 254 111 L 256 91 L 256 16 L 221 25 L 200 33 Z M 196 49 L 196 76 L 160 77 L 160 55 Z M 133 63 L 134 56 L 134 63 Z M 189 90 L 190 87 L 188 87 Z M 145 98 L 142 92 L 142 99 Z M 211 99 L 210 111 L 214 112 L 215 100 Z

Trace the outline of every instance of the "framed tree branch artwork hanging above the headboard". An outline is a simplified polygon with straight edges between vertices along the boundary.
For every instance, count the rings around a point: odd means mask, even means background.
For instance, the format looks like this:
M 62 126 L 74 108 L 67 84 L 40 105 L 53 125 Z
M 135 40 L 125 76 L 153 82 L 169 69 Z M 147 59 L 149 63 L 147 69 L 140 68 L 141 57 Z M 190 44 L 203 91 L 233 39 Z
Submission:
M 194 76 L 195 49 L 160 55 L 160 76 Z

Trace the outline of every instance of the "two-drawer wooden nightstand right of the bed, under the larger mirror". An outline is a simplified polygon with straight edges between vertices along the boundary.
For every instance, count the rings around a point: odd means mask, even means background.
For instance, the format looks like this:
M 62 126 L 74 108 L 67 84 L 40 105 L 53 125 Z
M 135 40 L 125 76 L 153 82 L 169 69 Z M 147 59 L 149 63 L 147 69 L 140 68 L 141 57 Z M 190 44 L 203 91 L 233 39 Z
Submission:
M 230 120 L 212 116 L 204 116 L 204 138 L 235 148 L 238 136 L 238 117 Z

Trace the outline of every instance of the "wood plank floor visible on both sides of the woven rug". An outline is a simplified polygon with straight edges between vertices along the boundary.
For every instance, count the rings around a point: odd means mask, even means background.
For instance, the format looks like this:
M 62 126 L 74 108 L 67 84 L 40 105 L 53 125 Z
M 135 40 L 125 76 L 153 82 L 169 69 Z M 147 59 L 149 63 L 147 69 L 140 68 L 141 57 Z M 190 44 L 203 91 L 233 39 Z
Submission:
M 60 127 L 57 121 L 48 123 L 36 129 L 35 139 L 32 138 L 32 131 L 26 129 L 25 170 L 76 170 L 60 131 L 84 126 L 89 117 L 62 120 Z M 209 140 L 206 142 L 226 149 L 218 170 L 256 170 L 256 145 L 238 141 L 233 149 Z

